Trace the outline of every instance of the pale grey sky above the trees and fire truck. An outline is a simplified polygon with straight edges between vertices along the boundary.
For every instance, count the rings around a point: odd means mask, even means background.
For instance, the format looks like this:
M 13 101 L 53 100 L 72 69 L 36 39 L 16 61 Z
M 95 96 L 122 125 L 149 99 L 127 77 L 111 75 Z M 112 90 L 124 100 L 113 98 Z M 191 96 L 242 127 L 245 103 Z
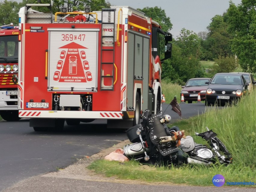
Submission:
M 207 26 L 215 15 L 222 15 L 229 8 L 229 0 L 105 0 L 111 5 L 132 8 L 160 7 L 172 23 L 172 36 L 180 34 L 182 28 L 195 33 L 207 31 Z M 235 5 L 241 0 L 232 0 Z

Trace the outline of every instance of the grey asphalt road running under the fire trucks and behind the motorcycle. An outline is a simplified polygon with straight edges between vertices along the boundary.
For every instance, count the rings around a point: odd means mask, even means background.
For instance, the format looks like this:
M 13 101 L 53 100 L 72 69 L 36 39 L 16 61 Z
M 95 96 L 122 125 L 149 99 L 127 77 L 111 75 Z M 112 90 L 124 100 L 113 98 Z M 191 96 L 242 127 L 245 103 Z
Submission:
M 163 104 L 164 114 L 180 119 L 172 107 Z M 182 118 L 204 113 L 204 103 L 181 103 Z M 0 191 L 32 176 L 56 171 L 77 159 L 91 156 L 126 140 L 121 129 L 106 129 L 106 121 L 95 120 L 67 126 L 63 132 L 35 132 L 29 120 L 0 122 Z

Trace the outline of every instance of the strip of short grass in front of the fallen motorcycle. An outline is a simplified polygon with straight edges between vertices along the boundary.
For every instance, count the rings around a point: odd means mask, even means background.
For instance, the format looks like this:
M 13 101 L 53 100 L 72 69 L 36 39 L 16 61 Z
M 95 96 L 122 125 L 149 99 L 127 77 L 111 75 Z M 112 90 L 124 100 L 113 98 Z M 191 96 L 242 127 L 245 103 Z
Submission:
M 114 176 L 117 179 L 138 180 L 147 183 L 213 186 L 212 178 L 216 174 L 224 175 L 226 182 L 253 182 L 255 180 L 255 170 L 232 165 L 213 165 L 211 167 L 186 165 L 180 168 L 166 168 L 141 165 L 136 161 L 119 163 L 117 161 L 96 160 L 88 168 L 104 174 L 106 177 Z

